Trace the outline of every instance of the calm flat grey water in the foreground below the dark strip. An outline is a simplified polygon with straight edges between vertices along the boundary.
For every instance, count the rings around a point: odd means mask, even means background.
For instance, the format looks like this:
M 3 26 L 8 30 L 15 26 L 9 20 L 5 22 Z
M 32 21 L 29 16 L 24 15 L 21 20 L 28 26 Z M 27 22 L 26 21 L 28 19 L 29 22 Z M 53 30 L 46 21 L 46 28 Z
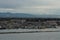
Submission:
M 0 40 L 60 40 L 60 32 L 0 34 Z

